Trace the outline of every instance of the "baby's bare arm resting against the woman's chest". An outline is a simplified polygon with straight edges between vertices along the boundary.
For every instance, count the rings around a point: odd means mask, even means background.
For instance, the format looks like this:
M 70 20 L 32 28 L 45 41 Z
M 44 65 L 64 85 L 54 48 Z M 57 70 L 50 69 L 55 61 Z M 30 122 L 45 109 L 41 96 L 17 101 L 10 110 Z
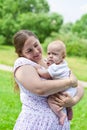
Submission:
M 47 71 L 47 69 L 38 68 L 37 72 L 41 77 L 46 78 L 46 79 L 51 79 L 51 76 L 49 72 Z

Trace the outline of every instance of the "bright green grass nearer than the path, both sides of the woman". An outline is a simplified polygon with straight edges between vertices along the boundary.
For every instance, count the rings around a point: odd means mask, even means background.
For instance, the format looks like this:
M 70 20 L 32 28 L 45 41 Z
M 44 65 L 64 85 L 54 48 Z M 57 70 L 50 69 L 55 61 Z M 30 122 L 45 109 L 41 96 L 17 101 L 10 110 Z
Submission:
M 13 75 L 0 70 L 0 130 L 12 130 L 21 110 L 19 94 L 14 92 Z M 87 129 L 87 89 L 83 99 L 73 107 L 71 130 Z

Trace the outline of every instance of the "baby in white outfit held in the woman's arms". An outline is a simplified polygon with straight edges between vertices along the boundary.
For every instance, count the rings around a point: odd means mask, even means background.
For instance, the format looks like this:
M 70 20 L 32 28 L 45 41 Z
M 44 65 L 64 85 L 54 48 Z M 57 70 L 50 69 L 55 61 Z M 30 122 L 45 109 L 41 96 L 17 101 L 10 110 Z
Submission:
M 63 79 L 69 77 L 70 69 L 68 67 L 67 62 L 65 61 L 66 57 L 66 47 L 65 44 L 60 41 L 56 40 L 51 42 L 47 48 L 47 65 L 48 69 L 40 69 L 38 68 L 37 71 L 39 75 L 43 78 L 52 78 L 52 79 Z M 69 88 L 68 90 L 64 91 L 70 94 L 72 97 L 76 94 L 76 88 Z M 66 116 L 65 109 L 58 111 L 54 104 L 49 102 L 49 106 L 51 109 L 58 115 L 60 118 L 60 124 L 63 125 Z

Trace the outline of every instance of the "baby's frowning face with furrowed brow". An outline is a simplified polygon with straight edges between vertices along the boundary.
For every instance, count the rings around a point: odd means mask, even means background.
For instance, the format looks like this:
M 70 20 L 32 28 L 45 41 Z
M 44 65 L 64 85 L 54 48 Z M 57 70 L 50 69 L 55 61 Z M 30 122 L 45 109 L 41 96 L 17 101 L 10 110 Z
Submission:
M 49 65 L 59 64 L 63 61 L 62 48 L 56 44 L 48 45 L 47 55 Z

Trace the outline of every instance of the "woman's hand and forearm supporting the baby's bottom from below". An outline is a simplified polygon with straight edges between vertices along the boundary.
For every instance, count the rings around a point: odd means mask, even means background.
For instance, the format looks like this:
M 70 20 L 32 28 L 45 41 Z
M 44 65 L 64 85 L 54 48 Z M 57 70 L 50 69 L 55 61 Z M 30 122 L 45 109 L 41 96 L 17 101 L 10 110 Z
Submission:
M 67 92 L 60 92 L 48 97 L 49 102 L 55 104 L 58 107 L 58 110 L 61 110 L 63 107 L 72 107 L 77 104 L 82 97 L 84 96 L 84 87 L 78 82 L 79 86 L 77 87 L 77 93 L 74 97 L 71 97 Z

